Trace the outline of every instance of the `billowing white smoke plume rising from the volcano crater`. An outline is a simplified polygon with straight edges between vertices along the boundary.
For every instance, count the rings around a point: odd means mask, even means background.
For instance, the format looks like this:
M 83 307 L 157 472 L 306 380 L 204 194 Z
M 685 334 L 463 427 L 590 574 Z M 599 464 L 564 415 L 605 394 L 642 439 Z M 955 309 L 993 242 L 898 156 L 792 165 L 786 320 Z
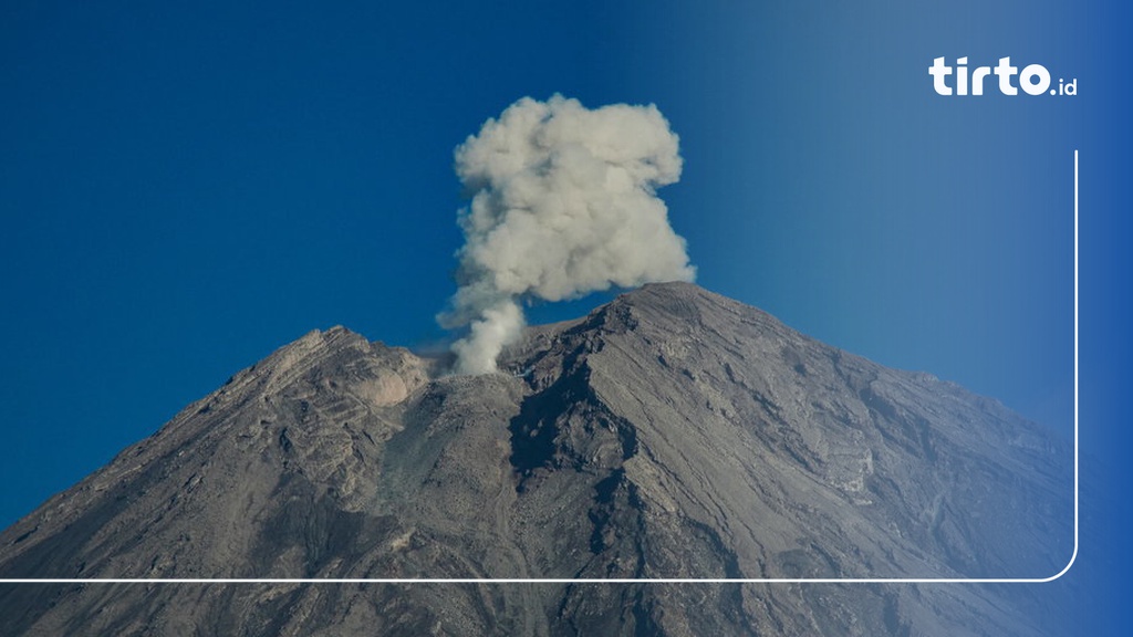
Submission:
M 446 328 L 455 372 L 496 368 L 523 328 L 525 299 L 562 300 L 651 281 L 691 281 L 684 239 L 655 189 L 678 180 L 678 137 L 654 105 L 588 110 L 523 97 L 457 147 L 471 195 Z

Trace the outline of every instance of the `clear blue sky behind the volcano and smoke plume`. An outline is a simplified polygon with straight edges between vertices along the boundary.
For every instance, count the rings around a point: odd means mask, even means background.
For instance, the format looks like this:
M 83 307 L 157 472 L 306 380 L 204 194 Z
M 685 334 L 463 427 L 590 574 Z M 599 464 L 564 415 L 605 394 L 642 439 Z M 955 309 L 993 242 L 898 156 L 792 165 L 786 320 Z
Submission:
M 5 2 L 0 526 L 310 329 L 442 341 L 452 150 L 555 92 L 665 113 L 700 284 L 1066 438 L 1080 148 L 1082 444 L 1128 523 L 1128 9 L 734 5 Z M 942 97 L 938 56 L 1080 94 Z

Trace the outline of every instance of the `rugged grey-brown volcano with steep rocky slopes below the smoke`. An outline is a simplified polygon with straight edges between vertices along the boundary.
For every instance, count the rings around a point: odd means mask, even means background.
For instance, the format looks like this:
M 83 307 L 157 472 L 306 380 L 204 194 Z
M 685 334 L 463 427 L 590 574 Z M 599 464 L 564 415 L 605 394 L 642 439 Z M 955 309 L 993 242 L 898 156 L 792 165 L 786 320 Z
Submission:
M 1073 550 L 1064 442 L 696 286 L 501 364 L 312 332 L 0 534 L 0 577 L 1014 578 Z M 22 584 L 0 634 L 1055 634 L 1017 591 Z

